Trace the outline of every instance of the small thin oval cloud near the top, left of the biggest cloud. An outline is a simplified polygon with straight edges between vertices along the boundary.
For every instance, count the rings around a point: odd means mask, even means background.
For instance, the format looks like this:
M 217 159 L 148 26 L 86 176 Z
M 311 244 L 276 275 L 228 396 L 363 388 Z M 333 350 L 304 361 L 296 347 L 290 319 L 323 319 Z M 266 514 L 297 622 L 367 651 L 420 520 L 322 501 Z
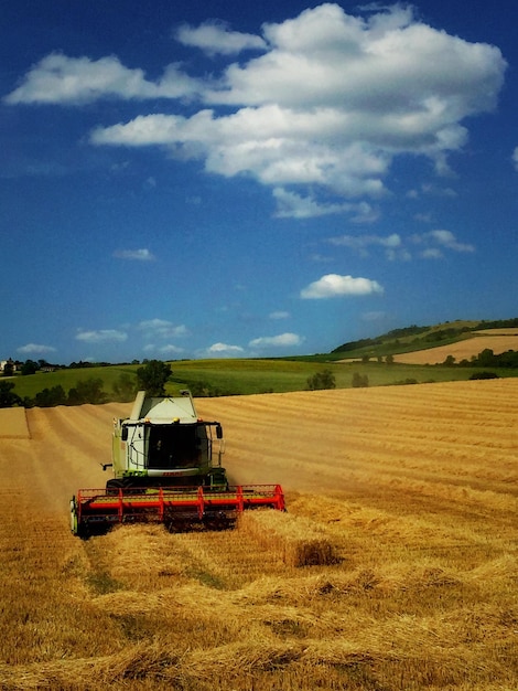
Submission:
M 180 43 L 198 47 L 209 55 L 231 55 L 245 50 L 263 50 L 267 46 L 261 36 L 230 31 L 224 22 L 205 22 L 199 26 L 183 24 L 176 31 L 176 39 Z

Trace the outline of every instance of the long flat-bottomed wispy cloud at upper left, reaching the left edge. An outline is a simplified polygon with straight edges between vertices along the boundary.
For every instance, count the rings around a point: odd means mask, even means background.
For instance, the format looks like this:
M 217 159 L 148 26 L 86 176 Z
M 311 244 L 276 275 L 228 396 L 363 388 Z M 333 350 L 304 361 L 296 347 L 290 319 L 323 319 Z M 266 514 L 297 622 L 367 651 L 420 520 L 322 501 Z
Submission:
M 87 56 L 68 57 L 51 53 L 25 75 L 22 84 L 6 96 L 14 104 L 69 104 L 80 105 L 98 98 L 181 98 L 193 96 L 197 81 L 169 65 L 158 82 L 145 79 L 142 70 L 125 67 L 110 55 L 100 60 Z

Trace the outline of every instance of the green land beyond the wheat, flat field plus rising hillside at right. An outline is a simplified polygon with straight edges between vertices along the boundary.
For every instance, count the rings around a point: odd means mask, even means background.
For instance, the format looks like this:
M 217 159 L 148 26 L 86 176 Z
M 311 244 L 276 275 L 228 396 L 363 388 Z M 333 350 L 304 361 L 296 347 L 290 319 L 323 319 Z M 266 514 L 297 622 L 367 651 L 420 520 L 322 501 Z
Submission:
M 170 362 L 173 374 L 166 393 L 175 394 L 181 389 L 191 389 L 194 396 L 246 395 L 284 393 L 310 389 L 307 380 L 317 372 L 330 370 L 337 389 L 349 389 L 363 378 L 368 386 L 422 384 L 428 382 L 466 381 L 479 373 L 475 366 L 420 365 L 386 362 L 387 355 L 445 346 L 473 338 L 479 328 L 517 327 L 518 319 L 499 322 L 455 321 L 434 327 L 409 327 L 388 332 L 377 339 L 364 339 L 330 353 L 290 357 L 284 359 L 222 359 L 177 360 Z M 346 360 L 345 360 L 346 359 Z M 365 361 L 367 360 L 367 361 Z M 45 390 L 63 386 L 66 393 L 84 380 L 101 380 L 108 401 L 118 400 L 114 387 L 122 374 L 134 376 L 140 364 L 115 364 L 57 369 L 54 372 L 36 372 L 26 376 L 15 375 L 14 393 L 22 398 L 34 398 Z M 516 376 L 518 371 L 490 368 L 498 376 Z M 517 373 L 517 374 L 515 374 Z M 129 394 L 131 398 L 133 394 Z M 127 398 L 128 400 L 128 398 Z

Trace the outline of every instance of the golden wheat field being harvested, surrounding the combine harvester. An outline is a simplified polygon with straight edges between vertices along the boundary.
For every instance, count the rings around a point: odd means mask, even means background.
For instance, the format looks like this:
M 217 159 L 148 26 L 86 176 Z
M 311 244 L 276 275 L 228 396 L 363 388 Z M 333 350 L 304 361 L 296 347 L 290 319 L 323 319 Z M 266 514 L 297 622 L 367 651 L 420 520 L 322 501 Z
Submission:
M 198 400 L 288 513 L 82 541 L 130 405 L 0 411 L 0 689 L 515 691 L 518 380 Z M 15 429 L 17 434 L 12 434 Z

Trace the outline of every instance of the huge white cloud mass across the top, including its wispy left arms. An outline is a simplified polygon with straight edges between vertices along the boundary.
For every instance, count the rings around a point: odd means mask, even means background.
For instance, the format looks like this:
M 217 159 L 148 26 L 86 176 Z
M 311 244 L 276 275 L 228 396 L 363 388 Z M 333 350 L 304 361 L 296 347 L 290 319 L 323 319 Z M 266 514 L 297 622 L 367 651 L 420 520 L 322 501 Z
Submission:
M 139 115 L 96 128 L 90 140 L 160 146 L 211 173 L 251 176 L 276 190 L 280 216 L 355 217 L 343 200 L 386 193 L 395 157 L 424 156 L 447 171 L 447 155 L 467 141 L 464 121 L 495 108 L 506 70 L 497 47 L 429 26 L 410 7 L 367 9 L 355 17 L 328 2 L 263 24 L 261 35 L 214 22 L 182 26 L 184 45 L 227 59 L 219 74 L 199 78 L 177 64 L 150 81 L 115 56 L 52 54 L 6 100 L 188 97 L 197 104 L 188 115 L 174 106 Z M 231 60 L 246 49 L 260 54 Z M 300 188 L 325 201 L 293 192 Z

